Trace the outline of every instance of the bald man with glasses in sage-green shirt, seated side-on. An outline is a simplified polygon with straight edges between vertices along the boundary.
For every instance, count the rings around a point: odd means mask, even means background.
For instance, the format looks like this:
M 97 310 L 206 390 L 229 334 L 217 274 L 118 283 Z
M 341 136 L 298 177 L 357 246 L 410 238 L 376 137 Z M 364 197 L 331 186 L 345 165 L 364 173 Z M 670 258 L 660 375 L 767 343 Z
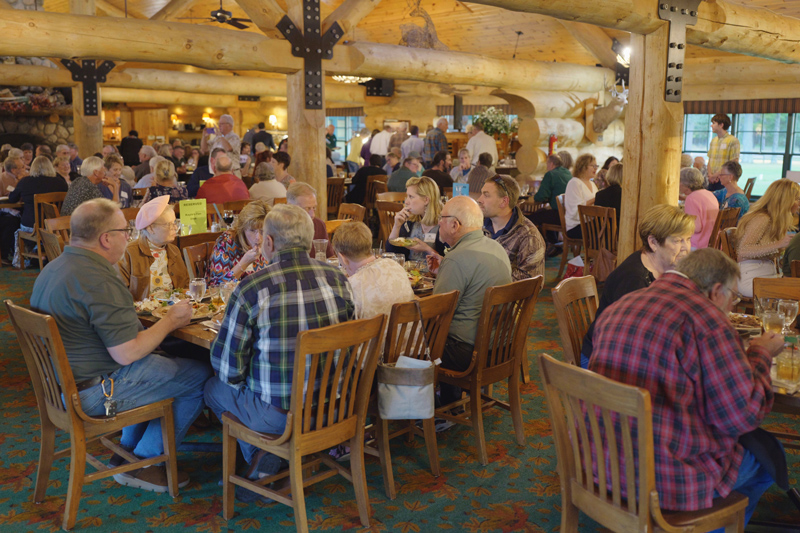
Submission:
M 464 371 L 472 360 L 478 319 L 486 289 L 511 283 L 511 263 L 500 244 L 483 234 L 483 213 L 469 196 L 456 196 L 442 208 L 439 238 L 450 245 L 444 259 L 431 254 L 428 266 L 437 274 L 433 294 L 459 291 L 450 332 L 442 353 L 442 368 Z M 441 265 L 437 263 L 441 260 Z M 461 390 L 441 384 L 441 402 L 461 397 Z M 452 425 L 452 424 L 450 424 Z

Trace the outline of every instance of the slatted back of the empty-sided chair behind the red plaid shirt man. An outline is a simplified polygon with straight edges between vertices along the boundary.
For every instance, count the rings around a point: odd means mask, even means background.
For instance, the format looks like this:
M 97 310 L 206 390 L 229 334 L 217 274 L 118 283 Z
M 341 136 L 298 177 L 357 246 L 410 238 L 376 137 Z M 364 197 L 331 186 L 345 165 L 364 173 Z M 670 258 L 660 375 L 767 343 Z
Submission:
M 549 355 L 539 356 L 539 370 L 565 497 L 574 502 L 581 492 L 584 510 L 591 508 L 606 527 L 649 528 L 655 491 L 650 394 Z

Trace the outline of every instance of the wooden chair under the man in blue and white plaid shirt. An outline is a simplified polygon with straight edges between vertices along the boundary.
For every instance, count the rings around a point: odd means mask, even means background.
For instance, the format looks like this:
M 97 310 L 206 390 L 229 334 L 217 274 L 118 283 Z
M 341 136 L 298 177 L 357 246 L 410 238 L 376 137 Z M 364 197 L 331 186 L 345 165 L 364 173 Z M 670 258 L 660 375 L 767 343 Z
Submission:
M 234 485 L 239 485 L 293 507 L 297 531 L 305 533 L 308 519 L 303 487 L 341 474 L 353 483 L 361 524 L 369 527 L 364 423 L 385 323 L 386 316 L 379 315 L 297 335 L 292 399 L 282 435 L 258 433 L 236 417 L 222 415 L 222 515 L 226 520 L 233 518 Z M 337 356 L 339 351 L 349 357 Z M 319 386 L 304 386 L 306 368 L 309 375 L 317 376 Z M 288 460 L 289 469 L 258 481 L 237 476 L 236 439 Z M 350 446 L 350 470 L 328 455 L 331 446 L 342 443 Z M 307 456 L 313 457 L 304 462 Z M 304 470 L 322 464 L 329 469 L 303 479 Z M 267 488 L 287 476 L 289 487 Z

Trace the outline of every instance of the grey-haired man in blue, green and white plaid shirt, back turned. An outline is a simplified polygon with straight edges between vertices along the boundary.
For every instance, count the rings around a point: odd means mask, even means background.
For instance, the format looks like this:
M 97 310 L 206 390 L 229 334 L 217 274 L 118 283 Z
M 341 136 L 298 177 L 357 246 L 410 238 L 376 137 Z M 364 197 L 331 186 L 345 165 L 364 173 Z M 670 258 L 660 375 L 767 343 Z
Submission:
M 274 207 L 263 231 L 269 266 L 242 280 L 229 300 L 211 345 L 217 377 L 206 383 L 205 398 L 218 417 L 229 412 L 255 431 L 280 434 L 291 407 L 297 334 L 350 320 L 354 306 L 345 275 L 308 256 L 314 224 L 302 209 Z M 239 445 L 253 475 L 277 473 L 277 457 L 260 454 L 255 461 L 256 448 Z

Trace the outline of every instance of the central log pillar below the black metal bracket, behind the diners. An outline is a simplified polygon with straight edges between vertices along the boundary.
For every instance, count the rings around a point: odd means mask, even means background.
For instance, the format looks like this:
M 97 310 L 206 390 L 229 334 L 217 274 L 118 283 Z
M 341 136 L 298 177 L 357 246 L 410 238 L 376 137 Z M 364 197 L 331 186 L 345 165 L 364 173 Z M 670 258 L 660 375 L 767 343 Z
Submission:
M 324 87 L 323 77 L 323 87 Z M 306 109 L 303 71 L 286 76 L 289 173 L 317 190 L 317 217 L 327 219 L 328 180 L 325 173 L 325 110 Z

